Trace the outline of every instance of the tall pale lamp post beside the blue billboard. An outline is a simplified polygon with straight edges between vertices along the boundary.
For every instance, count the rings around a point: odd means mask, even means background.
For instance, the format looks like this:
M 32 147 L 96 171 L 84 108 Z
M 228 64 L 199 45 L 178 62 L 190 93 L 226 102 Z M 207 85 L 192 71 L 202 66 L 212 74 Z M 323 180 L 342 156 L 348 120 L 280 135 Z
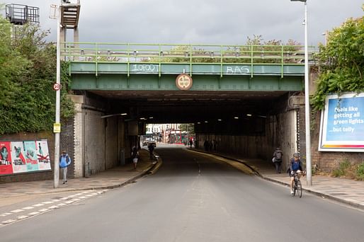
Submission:
M 307 0 L 290 0 L 305 2 L 305 129 L 306 129 L 306 172 L 307 186 L 312 186 L 311 174 L 311 135 L 309 128 L 309 77 L 308 77 L 308 46 L 307 46 Z

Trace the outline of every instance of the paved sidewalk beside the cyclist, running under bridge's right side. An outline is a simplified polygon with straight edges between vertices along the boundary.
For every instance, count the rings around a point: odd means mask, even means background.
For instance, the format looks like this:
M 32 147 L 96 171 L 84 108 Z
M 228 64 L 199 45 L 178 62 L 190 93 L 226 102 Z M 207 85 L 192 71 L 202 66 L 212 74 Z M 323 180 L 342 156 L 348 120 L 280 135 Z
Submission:
M 198 149 L 195 151 L 205 152 Z M 273 164 L 261 159 L 241 159 L 239 156 L 219 154 L 214 152 L 205 152 L 222 156 L 226 159 L 232 159 L 249 166 L 257 175 L 265 180 L 290 185 L 290 178 L 287 173 L 276 174 Z M 284 172 L 284 171 L 283 171 Z M 326 175 L 313 175 L 312 186 L 308 187 L 306 177 L 301 178 L 302 188 L 304 191 L 311 192 L 323 198 L 329 198 L 337 202 L 343 202 L 364 209 L 364 182 L 346 178 L 332 178 Z M 287 190 L 289 192 L 289 190 Z

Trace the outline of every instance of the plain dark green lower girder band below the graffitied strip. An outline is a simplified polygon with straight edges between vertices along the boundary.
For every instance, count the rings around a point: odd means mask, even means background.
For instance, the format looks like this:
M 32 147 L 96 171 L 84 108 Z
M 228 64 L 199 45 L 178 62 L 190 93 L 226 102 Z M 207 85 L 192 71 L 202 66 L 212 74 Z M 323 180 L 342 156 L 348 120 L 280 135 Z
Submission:
M 164 74 L 73 74 L 73 90 L 179 91 L 176 76 Z M 302 91 L 302 77 L 193 75 L 190 91 Z

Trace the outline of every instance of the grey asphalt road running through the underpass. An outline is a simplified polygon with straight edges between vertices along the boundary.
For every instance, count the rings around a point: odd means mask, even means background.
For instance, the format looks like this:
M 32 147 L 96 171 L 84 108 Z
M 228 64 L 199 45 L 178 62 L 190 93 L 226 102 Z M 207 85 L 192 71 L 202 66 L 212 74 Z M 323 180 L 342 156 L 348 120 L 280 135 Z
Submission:
M 0 228 L 1 241 L 363 241 L 364 213 L 211 156 L 157 147 L 137 183 Z

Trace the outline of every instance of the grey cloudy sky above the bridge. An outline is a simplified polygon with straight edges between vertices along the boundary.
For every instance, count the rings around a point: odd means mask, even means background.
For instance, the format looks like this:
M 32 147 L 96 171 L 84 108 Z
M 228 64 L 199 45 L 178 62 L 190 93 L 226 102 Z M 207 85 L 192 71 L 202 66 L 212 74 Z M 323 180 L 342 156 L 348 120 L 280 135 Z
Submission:
M 0 2 L 39 7 L 40 25 L 56 40 L 50 4 L 60 0 Z M 323 43 L 322 33 L 346 18 L 363 16 L 363 3 L 307 0 L 309 45 Z M 248 36 L 262 35 L 264 40 L 303 44 L 304 11 L 304 3 L 290 0 L 81 0 L 79 41 L 244 45 Z

